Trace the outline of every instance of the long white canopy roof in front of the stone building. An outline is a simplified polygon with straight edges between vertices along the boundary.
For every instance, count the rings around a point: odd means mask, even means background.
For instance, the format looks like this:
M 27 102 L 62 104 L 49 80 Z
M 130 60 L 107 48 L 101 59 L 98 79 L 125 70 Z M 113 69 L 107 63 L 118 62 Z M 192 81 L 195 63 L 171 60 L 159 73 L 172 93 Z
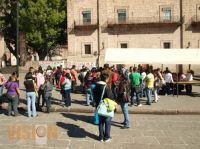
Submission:
M 200 64 L 200 49 L 108 48 L 110 64 Z

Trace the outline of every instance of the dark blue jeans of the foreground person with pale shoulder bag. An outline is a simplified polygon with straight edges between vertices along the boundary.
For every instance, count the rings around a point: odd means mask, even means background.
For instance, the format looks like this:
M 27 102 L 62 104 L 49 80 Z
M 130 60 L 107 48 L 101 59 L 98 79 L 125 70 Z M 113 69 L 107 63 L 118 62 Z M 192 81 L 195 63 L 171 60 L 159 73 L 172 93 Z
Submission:
M 111 120 L 112 117 L 99 115 L 99 140 L 107 140 L 110 138 Z

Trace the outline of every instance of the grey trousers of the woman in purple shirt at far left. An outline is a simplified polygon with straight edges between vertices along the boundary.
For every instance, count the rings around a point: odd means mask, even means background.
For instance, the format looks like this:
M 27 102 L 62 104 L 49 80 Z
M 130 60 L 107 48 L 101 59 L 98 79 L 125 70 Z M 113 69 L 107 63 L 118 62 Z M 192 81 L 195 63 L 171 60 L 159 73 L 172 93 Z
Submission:
M 17 106 L 19 103 L 19 98 L 17 95 L 8 95 L 8 115 L 10 116 L 12 113 L 12 110 L 14 111 L 14 114 L 18 114 Z

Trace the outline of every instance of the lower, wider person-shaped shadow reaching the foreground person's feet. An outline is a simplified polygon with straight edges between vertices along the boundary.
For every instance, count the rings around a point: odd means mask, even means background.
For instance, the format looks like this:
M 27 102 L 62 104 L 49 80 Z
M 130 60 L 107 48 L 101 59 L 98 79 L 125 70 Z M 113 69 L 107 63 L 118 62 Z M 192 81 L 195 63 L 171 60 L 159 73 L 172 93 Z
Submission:
M 66 129 L 69 137 L 73 137 L 73 138 L 89 137 L 89 138 L 98 140 L 98 136 L 86 131 L 85 129 L 81 128 L 80 126 L 77 126 L 74 124 L 66 124 L 63 122 L 57 122 L 56 125 L 61 128 Z

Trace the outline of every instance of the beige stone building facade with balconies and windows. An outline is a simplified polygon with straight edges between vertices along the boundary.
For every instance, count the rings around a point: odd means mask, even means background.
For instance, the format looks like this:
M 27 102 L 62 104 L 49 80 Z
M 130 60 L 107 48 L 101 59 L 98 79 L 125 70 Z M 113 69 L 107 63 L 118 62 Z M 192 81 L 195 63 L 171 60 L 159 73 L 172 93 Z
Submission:
M 102 66 L 106 48 L 200 48 L 200 0 L 67 0 L 67 11 L 69 61 Z

